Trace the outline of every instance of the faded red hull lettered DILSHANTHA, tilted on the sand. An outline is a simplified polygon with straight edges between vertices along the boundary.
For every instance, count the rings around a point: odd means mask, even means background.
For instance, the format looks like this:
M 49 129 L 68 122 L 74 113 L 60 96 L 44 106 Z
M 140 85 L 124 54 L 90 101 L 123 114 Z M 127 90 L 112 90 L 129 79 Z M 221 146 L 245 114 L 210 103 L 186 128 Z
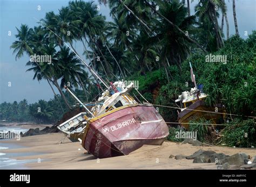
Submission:
M 127 155 L 143 145 L 161 145 L 169 128 L 153 106 L 125 107 L 93 121 L 82 145 L 97 158 Z

